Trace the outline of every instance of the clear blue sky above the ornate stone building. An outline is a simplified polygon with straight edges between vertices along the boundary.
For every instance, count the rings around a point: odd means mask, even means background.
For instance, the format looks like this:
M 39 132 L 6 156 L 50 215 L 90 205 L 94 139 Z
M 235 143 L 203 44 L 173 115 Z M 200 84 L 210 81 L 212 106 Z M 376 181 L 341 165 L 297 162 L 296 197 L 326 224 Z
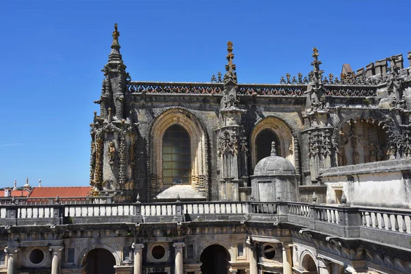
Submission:
M 0 1 L 0 187 L 88 186 L 89 124 L 114 23 L 134 80 L 278 83 L 411 51 L 409 1 Z M 405 62 L 408 66 L 408 60 Z

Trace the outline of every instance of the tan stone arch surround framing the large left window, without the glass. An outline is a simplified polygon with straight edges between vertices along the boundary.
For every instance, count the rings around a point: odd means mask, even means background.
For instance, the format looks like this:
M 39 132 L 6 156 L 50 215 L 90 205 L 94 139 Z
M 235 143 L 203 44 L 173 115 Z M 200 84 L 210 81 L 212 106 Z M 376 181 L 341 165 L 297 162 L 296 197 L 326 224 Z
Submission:
M 151 175 L 149 198 L 155 197 L 166 189 L 163 184 L 162 170 L 163 136 L 164 132 L 173 125 L 183 127 L 190 136 L 191 186 L 200 195 L 208 198 L 208 138 L 206 130 L 197 116 L 185 108 L 171 108 L 160 112 L 149 127 L 147 135 L 150 157 L 149 174 Z

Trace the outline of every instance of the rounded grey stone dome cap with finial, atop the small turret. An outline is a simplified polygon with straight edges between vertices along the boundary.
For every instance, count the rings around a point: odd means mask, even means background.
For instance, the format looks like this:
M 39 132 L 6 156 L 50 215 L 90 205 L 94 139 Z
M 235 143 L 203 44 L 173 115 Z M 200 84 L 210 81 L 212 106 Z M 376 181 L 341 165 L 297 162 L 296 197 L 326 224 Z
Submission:
M 295 168 L 286 158 L 277 156 L 275 142 L 271 143 L 271 155 L 263 158 L 254 168 L 254 176 L 295 175 Z

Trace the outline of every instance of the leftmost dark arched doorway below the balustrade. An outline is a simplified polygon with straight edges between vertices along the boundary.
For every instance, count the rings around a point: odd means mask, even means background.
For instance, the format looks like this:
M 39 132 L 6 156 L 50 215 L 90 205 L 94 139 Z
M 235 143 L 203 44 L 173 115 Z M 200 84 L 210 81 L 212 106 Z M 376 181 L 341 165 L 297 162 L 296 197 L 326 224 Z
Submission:
M 87 274 L 115 274 L 116 259 L 107 249 L 92 249 L 86 256 Z

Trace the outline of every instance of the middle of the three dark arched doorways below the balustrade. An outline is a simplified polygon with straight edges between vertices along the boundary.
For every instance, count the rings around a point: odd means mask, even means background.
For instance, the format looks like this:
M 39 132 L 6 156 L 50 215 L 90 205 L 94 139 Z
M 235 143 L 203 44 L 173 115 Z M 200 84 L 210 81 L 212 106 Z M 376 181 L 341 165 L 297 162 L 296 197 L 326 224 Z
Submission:
M 201 253 L 201 273 L 227 274 L 227 260 L 230 260 L 228 251 L 221 245 L 210 245 Z

